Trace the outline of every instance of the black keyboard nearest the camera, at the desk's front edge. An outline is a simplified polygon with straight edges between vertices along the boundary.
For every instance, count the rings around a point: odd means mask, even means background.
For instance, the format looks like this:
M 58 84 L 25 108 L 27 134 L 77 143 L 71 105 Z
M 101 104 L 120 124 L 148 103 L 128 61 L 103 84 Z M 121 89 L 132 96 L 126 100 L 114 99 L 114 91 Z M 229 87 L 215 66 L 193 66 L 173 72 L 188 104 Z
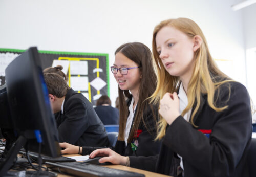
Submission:
M 145 176 L 144 174 L 136 172 L 118 170 L 83 162 L 46 162 L 46 166 L 58 172 L 68 173 L 75 176 Z

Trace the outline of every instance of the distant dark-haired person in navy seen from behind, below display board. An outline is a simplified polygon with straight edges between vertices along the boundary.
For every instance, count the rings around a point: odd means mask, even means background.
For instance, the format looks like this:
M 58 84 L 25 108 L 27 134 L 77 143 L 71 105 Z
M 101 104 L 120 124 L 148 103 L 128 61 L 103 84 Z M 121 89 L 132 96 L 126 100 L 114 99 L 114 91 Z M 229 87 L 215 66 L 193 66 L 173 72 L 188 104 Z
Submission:
M 102 95 L 96 102 L 95 112 L 104 125 L 118 125 L 119 110 L 111 106 L 108 95 Z

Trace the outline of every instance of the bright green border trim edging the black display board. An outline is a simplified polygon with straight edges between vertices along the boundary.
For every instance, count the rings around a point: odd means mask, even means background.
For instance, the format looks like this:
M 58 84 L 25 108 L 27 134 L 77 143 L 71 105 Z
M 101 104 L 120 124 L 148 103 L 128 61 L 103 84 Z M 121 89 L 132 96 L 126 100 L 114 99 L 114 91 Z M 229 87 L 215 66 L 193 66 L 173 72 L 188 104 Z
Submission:
M 0 52 L 24 52 L 26 50 L 21 49 L 5 49 L 0 48 Z M 60 52 L 60 51 L 38 51 L 41 54 L 57 54 L 57 55 L 96 55 L 96 56 L 105 56 L 106 57 L 106 82 L 107 82 L 107 93 L 110 97 L 110 79 L 109 79 L 109 54 L 103 53 L 83 53 L 83 52 Z

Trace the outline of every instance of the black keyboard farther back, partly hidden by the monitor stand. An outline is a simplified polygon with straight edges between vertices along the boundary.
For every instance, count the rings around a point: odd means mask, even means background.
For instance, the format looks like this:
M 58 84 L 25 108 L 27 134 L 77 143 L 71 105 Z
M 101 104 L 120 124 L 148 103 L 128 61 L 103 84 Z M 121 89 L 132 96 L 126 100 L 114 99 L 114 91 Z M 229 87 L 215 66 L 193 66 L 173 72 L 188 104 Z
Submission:
M 19 152 L 19 153 L 21 153 L 24 156 L 26 156 L 26 152 Z M 38 153 L 36 153 L 36 152 L 28 152 L 28 154 L 29 154 L 29 157 L 33 161 L 37 162 L 37 160 L 38 160 Z M 53 158 L 53 157 L 45 156 L 45 155 L 42 155 L 42 154 L 41 154 L 41 159 L 42 159 L 42 163 L 45 163 L 46 161 L 47 162 L 76 162 L 75 159 L 67 158 L 67 157 L 64 157 L 64 156 Z

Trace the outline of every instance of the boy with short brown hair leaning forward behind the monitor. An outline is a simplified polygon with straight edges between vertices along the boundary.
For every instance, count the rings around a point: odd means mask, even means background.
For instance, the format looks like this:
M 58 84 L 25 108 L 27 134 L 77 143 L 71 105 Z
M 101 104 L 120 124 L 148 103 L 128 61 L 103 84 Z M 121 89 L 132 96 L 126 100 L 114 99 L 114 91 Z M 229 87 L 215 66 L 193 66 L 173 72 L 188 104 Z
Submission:
M 60 142 L 77 146 L 108 146 L 109 139 L 103 123 L 92 104 L 76 93 L 56 73 L 44 73 L 50 103 L 56 117 Z

